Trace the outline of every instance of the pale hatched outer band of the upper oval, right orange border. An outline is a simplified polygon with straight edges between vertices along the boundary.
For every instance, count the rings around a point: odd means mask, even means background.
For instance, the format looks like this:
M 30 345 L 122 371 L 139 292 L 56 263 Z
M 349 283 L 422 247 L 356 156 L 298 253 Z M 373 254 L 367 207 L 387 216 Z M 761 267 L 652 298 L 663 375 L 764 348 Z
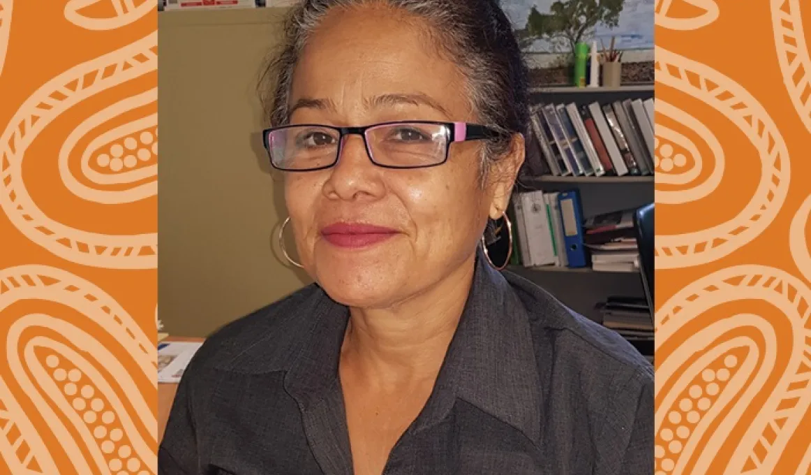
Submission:
M 740 128 L 761 158 L 761 179 L 753 197 L 736 217 L 702 231 L 656 235 L 656 267 L 673 269 L 717 261 L 755 239 L 775 219 L 789 185 L 786 143 L 757 100 L 718 71 L 655 49 L 656 82 L 666 84 L 718 110 Z M 689 79 L 689 75 L 697 80 Z

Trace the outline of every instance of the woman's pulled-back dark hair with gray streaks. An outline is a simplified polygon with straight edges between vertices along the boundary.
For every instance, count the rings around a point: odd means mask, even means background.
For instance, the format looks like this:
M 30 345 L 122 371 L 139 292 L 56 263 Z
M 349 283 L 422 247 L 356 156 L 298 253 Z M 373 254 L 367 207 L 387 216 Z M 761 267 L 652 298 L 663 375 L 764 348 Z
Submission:
M 260 96 L 271 126 L 290 120 L 293 72 L 307 40 L 333 8 L 388 5 L 423 19 L 440 53 L 466 77 L 466 96 L 478 122 L 500 132 L 481 154 L 482 176 L 529 123 L 527 70 L 513 27 L 498 0 L 303 0 L 290 12 L 281 52 L 263 73 Z

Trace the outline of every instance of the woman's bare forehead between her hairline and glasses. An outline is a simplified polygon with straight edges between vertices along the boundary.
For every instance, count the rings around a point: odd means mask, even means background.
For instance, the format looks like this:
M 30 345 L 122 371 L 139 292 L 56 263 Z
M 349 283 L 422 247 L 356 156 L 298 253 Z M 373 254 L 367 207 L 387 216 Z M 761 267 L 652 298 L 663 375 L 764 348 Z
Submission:
M 320 101 L 321 108 L 351 101 L 366 109 L 430 107 L 450 115 L 466 108 L 465 78 L 457 65 L 426 48 L 424 35 L 396 19 L 349 19 L 320 28 L 294 70 L 291 106 Z M 291 111 L 292 112 L 292 111 Z

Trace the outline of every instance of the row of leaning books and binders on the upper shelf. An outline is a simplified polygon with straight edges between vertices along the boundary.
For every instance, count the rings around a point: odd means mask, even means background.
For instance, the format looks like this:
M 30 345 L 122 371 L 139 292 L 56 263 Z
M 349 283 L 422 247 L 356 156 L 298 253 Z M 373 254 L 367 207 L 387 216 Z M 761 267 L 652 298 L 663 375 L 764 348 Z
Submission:
M 533 106 L 533 175 L 653 175 L 654 99 Z

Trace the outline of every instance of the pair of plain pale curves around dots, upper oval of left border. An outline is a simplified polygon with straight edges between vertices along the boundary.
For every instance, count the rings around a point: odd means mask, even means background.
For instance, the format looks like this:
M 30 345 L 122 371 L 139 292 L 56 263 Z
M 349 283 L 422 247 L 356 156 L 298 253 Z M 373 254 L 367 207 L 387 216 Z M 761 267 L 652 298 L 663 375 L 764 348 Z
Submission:
M 76 127 L 73 132 L 67 136 L 67 139 L 62 145 L 62 149 L 59 150 L 58 158 L 59 175 L 62 177 L 62 182 L 67 189 L 85 200 L 107 205 L 131 203 L 157 194 L 157 180 L 152 180 L 149 183 L 140 184 L 135 188 L 126 190 L 99 190 L 90 188 L 80 183 L 79 180 L 75 178 L 69 166 L 71 152 L 82 137 L 119 114 L 128 110 L 134 110 L 140 106 L 145 106 L 154 101 L 157 101 L 157 88 L 133 97 L 127 97 L 127 99 L 118 101 L 97 114 L 93 114 L 91 117 L 84 120 L 84 122 L 80 123 L 79 127 Z M 97 184 L 126 184 L 157 176 L 157 165 L 155 164 L 117 175 L 101 174 L 92 170 L 89 164 L 92 153 L 96 152 L 102 145 L 121 138 L 122 136 L 126 136 L 128 133 L 137 132 L 142 128 L 154 127 L 156 124 L 157 114 L 150 114 L 142 119 L 137 119 L 120 127 L 115 127 L 92 140 L 84 150 L 81 158 L 81 169 L 84 176 Z

